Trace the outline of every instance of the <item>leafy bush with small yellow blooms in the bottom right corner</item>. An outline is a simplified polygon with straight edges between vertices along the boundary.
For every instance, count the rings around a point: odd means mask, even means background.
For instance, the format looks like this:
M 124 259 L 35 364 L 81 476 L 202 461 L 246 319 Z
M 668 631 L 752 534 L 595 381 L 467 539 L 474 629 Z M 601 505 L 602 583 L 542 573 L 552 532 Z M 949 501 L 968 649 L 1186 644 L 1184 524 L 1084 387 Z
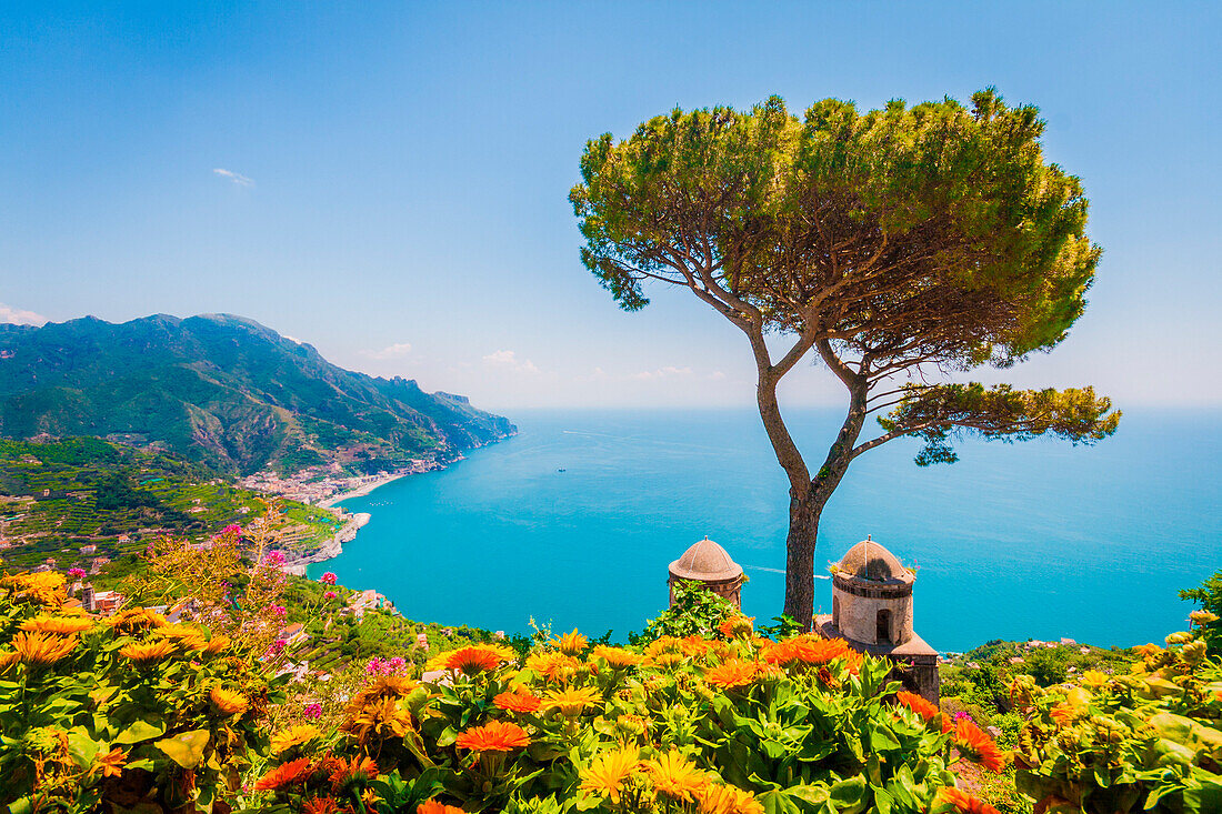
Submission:
M 1222 666 L 1195 632 L 1138 648 L 1128 675 L 1089 671 L 1072 683 L 1012 687 L 1026 721 L 1018 787 L 1041 810 L 1123 814 L 1222 810 Z

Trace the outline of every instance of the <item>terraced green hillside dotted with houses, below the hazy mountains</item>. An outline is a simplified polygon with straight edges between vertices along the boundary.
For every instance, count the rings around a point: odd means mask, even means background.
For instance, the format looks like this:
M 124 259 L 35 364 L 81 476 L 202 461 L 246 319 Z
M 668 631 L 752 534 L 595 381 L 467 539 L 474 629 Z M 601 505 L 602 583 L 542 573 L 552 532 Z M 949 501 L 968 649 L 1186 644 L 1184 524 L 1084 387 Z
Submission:
M 282 508 L 291 521 L 286 548 L 295 551 L 313 550 L 340 526 L 326 510 L 295 501 Z M 143 551 L 153 537 L 202 539 L 263 512 L 255 493 L 171 453 L 93 438 L 0 439 L 0 537 L 9 543 L 0 559 L 7 567 L 46 557 L 61 568 L 87 567 L 94 557 Z M 97 550 L 82 554 L 89 545 Z

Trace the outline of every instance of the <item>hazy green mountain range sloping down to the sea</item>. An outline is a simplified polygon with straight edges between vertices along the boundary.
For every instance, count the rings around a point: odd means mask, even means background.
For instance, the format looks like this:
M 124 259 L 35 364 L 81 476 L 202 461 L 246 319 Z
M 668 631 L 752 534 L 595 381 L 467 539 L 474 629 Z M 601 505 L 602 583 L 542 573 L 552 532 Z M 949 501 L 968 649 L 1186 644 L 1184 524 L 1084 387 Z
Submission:
M 0 435 L 163 446 L 226 474 L 389 471 L 516 431 L 464 396 L 331 364 L 230 314 L 0 324 Z

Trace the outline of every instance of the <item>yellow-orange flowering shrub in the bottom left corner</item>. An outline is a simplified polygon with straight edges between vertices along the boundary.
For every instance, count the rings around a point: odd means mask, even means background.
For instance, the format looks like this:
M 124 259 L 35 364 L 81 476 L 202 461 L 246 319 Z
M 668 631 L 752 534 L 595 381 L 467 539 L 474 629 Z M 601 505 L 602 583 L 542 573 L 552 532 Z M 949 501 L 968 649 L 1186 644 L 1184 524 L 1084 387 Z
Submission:
M 208 809 L 279 700 L 227 637 L 143 607 L 64 607 L 54 572 L 0 579 L 0 802 L 15 813 Z

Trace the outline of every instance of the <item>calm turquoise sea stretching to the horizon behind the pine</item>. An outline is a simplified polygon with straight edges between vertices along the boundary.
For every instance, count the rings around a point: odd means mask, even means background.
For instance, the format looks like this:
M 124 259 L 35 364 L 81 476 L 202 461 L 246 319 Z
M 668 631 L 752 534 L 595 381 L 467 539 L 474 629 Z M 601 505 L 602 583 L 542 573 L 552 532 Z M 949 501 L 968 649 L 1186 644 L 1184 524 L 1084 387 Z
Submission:
M 373 519 L 309 574 L 375 588 L 409 618 L 622 638 L 665 606 L 667 563 L 708 534 L 750 577 L 744 610 L 780 612 L 787 486 L 754 413 L 510 418 L 518 436 L 348 500 Z M 840 417 L 789 423 L 816 461 Z M 1157 642 L 1184 626 L 1176 592 L 1222 568 L 1217 428 L 1216 412 L 1129 411 L 1094 447 L 969 440 L 958 463 L 929 468 L 913 464 L 915 441 L 895 441 L 832 497 L 816 573 L 871 534 L 919 566 L 915 626 L 940 650 Z M 816 581 L 816 605 L 830 590 Z

